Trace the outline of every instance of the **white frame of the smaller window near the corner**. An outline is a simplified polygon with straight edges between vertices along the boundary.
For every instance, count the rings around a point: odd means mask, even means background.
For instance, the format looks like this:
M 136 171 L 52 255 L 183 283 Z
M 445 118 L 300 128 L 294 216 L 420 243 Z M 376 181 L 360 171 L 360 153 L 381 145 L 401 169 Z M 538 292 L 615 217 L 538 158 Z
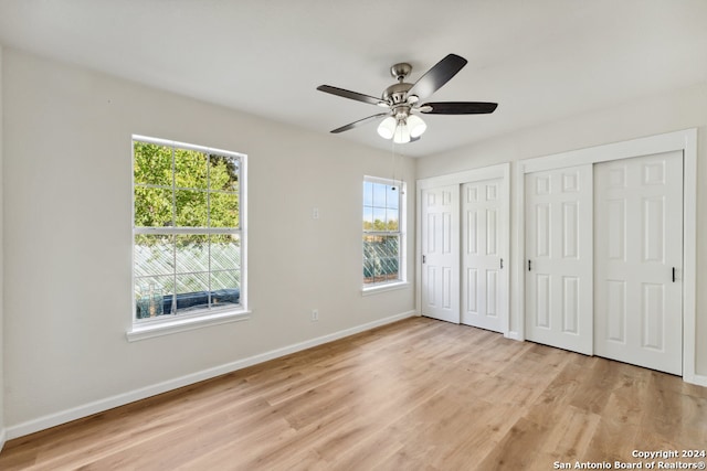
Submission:
M 401 289 L 409 286 L 408 282 L 408 242 L 407 242 L 407 184 L 402 180 L 383 179 L 380 176 L 363 175 L 363 184 L 366 183 L 381 183 L 390 186 L 398 188 L 398 231 L 382 232 L 382 231 L 366 231 L 361 227 L 362 236 L 377 234 L 377 235 L 398 235 L 400 238 L 399 253 L 398 253 L 398 279 L 387 280 L 380 282 L 366 283 L 361 277 L 361 295 L 368 296 L 377 292 L 390 291 L 394 289 Z M 363 216 L 365 197 L 361 190 L 361 216 Z M 361 268 L 363 267 L 365 254 L 363 243 L 361 237 Z

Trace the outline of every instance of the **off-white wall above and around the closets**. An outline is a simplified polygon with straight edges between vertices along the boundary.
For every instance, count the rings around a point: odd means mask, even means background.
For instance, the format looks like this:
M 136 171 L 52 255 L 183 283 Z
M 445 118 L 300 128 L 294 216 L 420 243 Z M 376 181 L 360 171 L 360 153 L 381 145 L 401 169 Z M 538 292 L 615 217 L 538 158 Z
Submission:
M 503 104 L 498 111 L 503 114 Z M 558 122 L 500 136 L 478 144 L 420 159 L 418 178 L 429 178 L 516 162 L 574 149 L 601 146 L 687 128 L 698 128 L 697 142 L 697 332 L 696 373 L 707 375 L 707 291 L 699 289 L 707 278 L 707 83 L 673 90 L 620 106 L 576 116 Z M 513 184 L 511 182 L 511 190 Z M 515 201 L 516 195 L 511 195 Z M 511 207 L 515 218 L 517 207 Z M 517 246 L 518 228 L 511 229 L 511 247 Z M 515 266 L 515 264 L 514 264 Z M 513 269 L 513 266 L 511 266 Z M 518 292 L 517 272 L 511 274 L 511 292 Z M 518 299 L 511 300 L 511 328 L 519 319 Z

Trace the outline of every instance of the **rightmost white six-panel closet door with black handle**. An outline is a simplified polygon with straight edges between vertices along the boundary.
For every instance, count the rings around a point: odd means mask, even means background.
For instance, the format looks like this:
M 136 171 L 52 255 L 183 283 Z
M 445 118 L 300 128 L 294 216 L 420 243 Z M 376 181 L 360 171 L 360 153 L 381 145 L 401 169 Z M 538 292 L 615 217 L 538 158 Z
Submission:
M 594 171 L 595 353 L 679 375 L 683 153 Z

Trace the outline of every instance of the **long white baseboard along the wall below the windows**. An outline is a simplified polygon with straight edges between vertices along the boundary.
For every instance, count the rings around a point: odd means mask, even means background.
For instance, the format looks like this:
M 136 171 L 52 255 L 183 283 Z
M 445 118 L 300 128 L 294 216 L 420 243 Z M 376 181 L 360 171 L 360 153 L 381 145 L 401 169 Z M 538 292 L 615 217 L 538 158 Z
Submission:
M 23 437 L 25 435 L 34 433 L 40 430 L 44 430 L 51 427 L 55 427 L 62 424 L 70 422 L 83 417 L 91 416 L 93 414 L 103 413 L 115 407 L 124 406 L 126 404 L 134 403 L 136 400 L 145 399 L 158 394 L 167 393 L 179 387 L 189 386 L 190 384 L 199 383 L 204 379 L 210 379 L 217 376 L 232 373 L 238 370 L 242 370 L 249 366 L 256 365 L 258 363 L 267 362 L 270 360 L 278 358 L 281 356 L 289 355 L 303 350 L 312 349 L 313 346 L 321 345 L 335 340 L 344 339 L 360 332 L 366 332 L 371 329 L 376 329 L 381 325 L 386 325 L 392 322 L 411 318 L 416 315 L 416 311 L 408 311 L 400 314 L 391 315 L 377 321 L 368 322 L 361 325 L 357 325 L 350 329 L 345 329 L 338 332 L 334 332 L 327 335 L 323 335 L 316 339 L 307 340 L 304 342 L 295 343 L 284 346 L 282 349 L 271 350 L 270 352 L 253 355 L 243 360 L 226 363 L 224 365 L 215 366 L 212 368 L 203 370 L 197 373 L 184 375 L 175 379 L 166 381 L 162 383 L 146 386 L 139 389 L 130 390 L 124 394 L 107 397 L 105 399 L 95 400 L 93 403 L 85 404 L 83 406 L 74 407 L 60 413 L 50 414 L 33 420 L 28 420 L 15 426 L 1 429 L 0 443 L 4 445 L 6 440 Z M 0 445 L 0 449 L 1 448 Z

